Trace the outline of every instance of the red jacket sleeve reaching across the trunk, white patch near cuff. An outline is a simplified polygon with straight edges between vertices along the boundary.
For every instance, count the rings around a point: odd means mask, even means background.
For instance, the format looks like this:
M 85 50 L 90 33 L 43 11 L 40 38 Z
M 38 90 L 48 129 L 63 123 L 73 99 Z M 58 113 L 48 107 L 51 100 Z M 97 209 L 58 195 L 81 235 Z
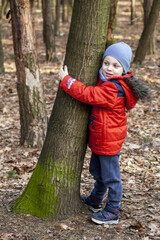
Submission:
M 82 82 L 67 75 L 61 81 L 60 88 L 78 101 L 90 105 L 113 108 L 117 102 L 117 87 L 109 81 L 99 86 L 86 87 Z

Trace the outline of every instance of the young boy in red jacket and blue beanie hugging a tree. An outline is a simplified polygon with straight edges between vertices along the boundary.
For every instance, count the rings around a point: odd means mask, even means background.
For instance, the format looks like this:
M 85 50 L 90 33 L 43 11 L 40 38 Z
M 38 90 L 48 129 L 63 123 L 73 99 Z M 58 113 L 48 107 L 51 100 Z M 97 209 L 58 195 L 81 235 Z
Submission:
M 90 196 L 82 196 L 94 212 L 91 220 L 97 224 L 117 224 L 122 200 L 120 149 L 127 134 L 125 109 L 132 109 L 139 98 L 149 95 L 149 89 L 128 72 L 132 50 L 124 42 L 109 46 L 103 55 L 97 86 L 86 87 L 68 75 L 67 66 L 60 69 L 61 89 L 86 104 L 93 105 L 89 123 L 89 147 L 92 150 L 90 173 L 95 179 Z M 108 190 L 108 201 L 102 200 Z

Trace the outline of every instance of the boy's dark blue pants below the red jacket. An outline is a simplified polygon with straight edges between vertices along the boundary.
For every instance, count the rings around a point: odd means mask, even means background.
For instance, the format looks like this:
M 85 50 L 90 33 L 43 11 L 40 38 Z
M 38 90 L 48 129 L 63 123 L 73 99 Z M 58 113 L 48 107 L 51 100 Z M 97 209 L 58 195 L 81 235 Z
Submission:
M 120 153 L 112 156 L 92 153 L 89 168 L 96 180 L 92 194 L 103 199 L 108 190 L 108 201 L 115 206 L 122 200 L 119 156 Z

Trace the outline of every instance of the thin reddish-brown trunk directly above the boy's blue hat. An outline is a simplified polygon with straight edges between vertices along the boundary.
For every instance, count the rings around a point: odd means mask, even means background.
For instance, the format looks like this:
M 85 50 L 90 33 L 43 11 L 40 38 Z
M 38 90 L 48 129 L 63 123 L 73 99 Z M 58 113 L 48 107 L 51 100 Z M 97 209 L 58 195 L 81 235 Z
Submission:
M 115 39 L 113 38 L 113 30 L 116 25 L 117 3 L 118 3 L 118 0 L 111 0 L 106 48 L 115 42 Z

